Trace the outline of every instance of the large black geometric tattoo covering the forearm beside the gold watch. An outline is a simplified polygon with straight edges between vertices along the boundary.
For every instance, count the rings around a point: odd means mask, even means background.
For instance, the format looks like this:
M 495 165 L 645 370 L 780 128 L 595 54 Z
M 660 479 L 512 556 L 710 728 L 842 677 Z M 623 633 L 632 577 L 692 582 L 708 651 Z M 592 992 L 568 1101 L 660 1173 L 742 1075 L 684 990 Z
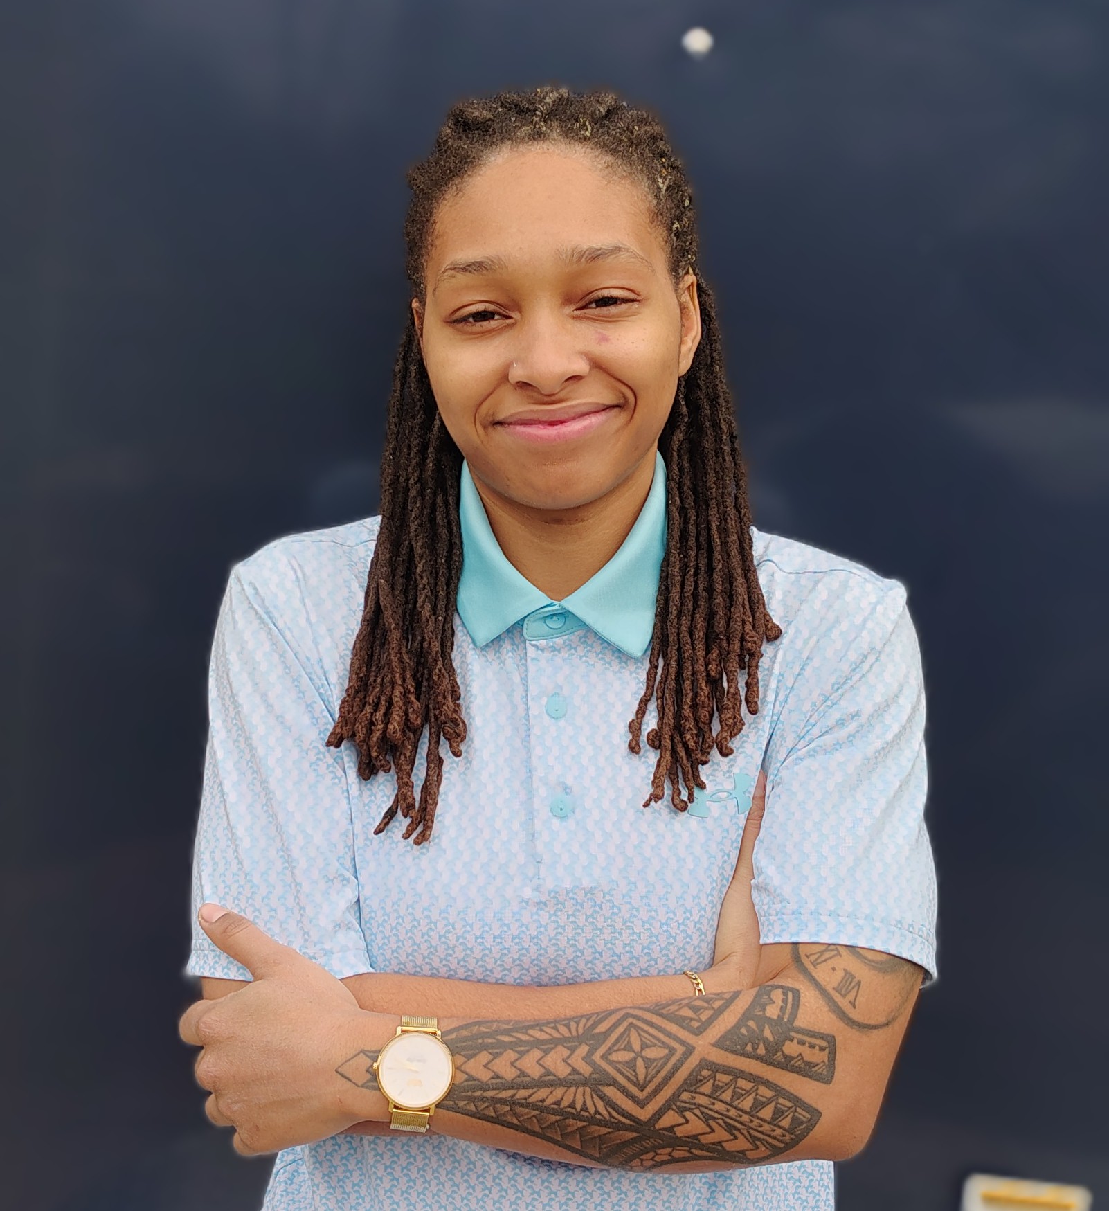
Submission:
M 812 1131 L 820 1110 L 739 1067 L 736 1056 L 821 1081 L 832 1079 L 834 1067 L 834 1040 L 794 1029 L 800 993 L 785 991 L 794 999 L 775 1000 L 770 987 L 754 1000 L 749 993 L 712 993 L 556 1021 L 446 1029 L 455 1083 L 442 1109 L 632 1170 L 772 1160 Z M 801 1050 L 809 1048 L 814 1054 Z

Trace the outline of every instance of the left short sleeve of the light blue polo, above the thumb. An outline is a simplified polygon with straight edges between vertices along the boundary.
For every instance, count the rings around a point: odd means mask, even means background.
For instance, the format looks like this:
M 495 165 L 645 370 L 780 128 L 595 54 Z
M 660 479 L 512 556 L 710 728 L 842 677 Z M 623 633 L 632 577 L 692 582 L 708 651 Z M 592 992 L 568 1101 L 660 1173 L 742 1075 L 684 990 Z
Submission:
M 291 557 L 230 573 L 212 644 L 209 728 L 193 859 L 185 975 L 249 980 L 196 919 L 205 901 L 253 920 L 341 978 L 373 970 L 326 679 Z

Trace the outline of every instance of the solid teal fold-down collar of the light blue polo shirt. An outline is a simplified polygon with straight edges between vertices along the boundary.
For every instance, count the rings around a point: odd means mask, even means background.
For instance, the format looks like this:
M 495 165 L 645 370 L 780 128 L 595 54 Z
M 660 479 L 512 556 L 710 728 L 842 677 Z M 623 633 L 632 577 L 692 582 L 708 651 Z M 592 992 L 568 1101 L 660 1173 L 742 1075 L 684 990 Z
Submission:
M 655 475 L 620 550 L 580 589 L 552 602 L 508 563 L 485 516 L 470 467 L 459 486 L 462 573 L 458 612 L 478 648 L 538 609 L 562 606 L 630 656 L 643 656 L 655 630 L 655 596 L 666 552 L 666 464 L 655 450 Z

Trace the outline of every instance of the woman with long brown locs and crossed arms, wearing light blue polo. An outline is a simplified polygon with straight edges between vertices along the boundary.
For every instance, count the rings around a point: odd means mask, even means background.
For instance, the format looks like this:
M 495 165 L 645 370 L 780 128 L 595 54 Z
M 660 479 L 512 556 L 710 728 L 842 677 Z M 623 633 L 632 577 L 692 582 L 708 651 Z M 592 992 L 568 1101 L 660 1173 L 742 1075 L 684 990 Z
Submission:
M 904 586 L 752 526 L 650 114 L 467 101 L 409 183 L 381 515 L 216 631 L 206 1112 L 274 1211 L 826 1211 L 936 971 Z

